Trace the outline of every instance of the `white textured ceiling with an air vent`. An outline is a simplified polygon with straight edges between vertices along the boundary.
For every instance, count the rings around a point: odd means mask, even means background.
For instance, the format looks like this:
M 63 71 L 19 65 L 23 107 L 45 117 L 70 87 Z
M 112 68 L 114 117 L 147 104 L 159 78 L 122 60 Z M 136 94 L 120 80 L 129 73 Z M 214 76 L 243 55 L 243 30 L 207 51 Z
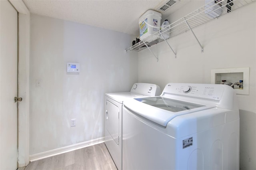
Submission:
M 179 1 L 179 0 L 178 0 Z M 165 19 L 190 0 L 181 0 L 162 13 Z M 33 14 L 78 22 L 138 36 L 138 20 L 168 0 L 23 0 Z

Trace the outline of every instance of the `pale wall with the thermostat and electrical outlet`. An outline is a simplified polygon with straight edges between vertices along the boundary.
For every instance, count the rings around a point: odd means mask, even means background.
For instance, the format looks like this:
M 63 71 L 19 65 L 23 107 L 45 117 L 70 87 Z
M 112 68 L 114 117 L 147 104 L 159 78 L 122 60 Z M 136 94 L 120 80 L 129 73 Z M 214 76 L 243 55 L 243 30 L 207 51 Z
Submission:
M 35 14 L 30 37 L 30 155 L 104 137 L 104 93 L 138 81 L 138 54 L 125 52 L 134 37 Z

